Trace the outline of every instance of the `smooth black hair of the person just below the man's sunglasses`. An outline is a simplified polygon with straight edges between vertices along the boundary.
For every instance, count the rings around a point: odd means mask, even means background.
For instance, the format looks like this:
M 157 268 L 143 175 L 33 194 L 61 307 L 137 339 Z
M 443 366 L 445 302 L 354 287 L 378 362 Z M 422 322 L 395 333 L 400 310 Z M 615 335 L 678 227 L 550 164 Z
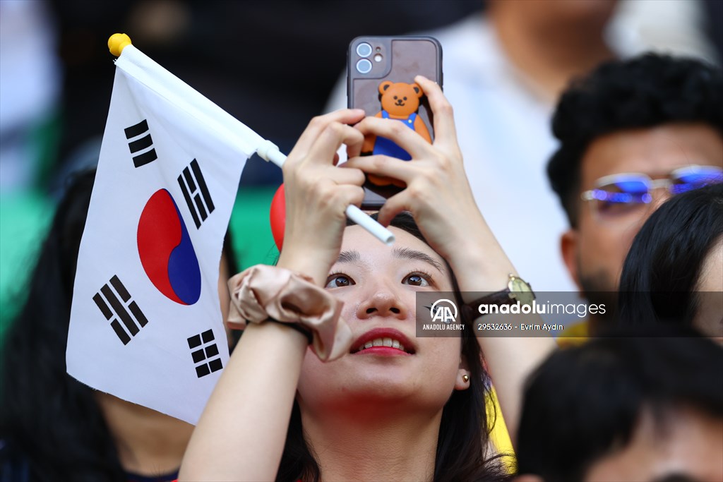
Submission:
M 620 277 L 621 324 L 691 324 L 703 262 L 723 238 L 723 184 L 672 197 L 633 240 Z

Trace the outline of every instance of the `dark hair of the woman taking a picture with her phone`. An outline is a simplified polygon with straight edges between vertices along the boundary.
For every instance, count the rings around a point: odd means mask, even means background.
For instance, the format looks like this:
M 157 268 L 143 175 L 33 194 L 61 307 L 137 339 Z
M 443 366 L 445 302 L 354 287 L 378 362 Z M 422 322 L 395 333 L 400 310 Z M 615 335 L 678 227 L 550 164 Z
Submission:
M 372 218 L 376 218 L 376 215 Z M 354 223 L 348 223 L 352 224 Z M 394 218 L 390 225 L 427 243 L 414 223 L 414 218 L 406 212 Z M 454 279 L 453 284 L 457 295 L 455 301 L 461 304 L 459 288 Z M 492 420 L 487 419 L 489 374 L 482 366 L 482 353 L 471 330 L 471 320 L 465 320 L 465 325 L 469 330 L 463 333 L 462 354 L 469 365 L 471 383 L 467 390 L 455 390 L 442 410 L 434 480 L 435 482 L 505 481 L 508 480 L 508 475 L 503 468 L 501 456 L 490 456 L 488 453 L 489 433 L 496 418 L 493 413 Z M 281 457 L 281 468 L 276 475 L 276 481 L 319 482 L 320 476 L 319 465 L 304 439 L 299 404 L 294 402 L 286 446 Z

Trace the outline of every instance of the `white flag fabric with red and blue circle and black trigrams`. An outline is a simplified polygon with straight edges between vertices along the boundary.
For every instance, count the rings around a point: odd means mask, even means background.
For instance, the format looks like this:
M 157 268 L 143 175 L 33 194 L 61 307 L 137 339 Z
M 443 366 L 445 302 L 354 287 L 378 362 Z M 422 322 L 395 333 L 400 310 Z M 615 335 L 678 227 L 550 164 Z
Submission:
M 262 142 L 124 48 L 78 254 L 69 374 L 197 422 L 228 361 L 223 236 L 241 171 Z

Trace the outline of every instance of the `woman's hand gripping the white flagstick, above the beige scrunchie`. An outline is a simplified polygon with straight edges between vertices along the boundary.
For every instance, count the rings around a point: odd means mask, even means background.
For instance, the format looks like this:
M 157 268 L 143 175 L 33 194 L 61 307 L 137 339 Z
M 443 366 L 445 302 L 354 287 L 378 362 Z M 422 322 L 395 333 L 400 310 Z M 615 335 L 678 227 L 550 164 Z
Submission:
M 324 285 L 341 249 L 346 207 L 364 199 L 364 173 L 336 167 L 336 151 L 359 155 L 364 136 L 348 124 L 364 111 L 345 109 L 315 117 L 283 164 L 286 228 L 278 266 L 302 272 Z

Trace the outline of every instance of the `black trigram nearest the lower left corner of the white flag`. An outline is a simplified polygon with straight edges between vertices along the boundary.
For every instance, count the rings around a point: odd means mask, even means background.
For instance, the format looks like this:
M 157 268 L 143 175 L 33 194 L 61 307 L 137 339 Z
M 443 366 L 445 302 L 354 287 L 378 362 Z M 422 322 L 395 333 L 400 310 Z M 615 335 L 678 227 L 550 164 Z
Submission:
M 98 293 L 95 293 L 93 301 L 98 305 L 106 319 L 112 319 L 111 328 L 116 332 L 121 342 L 127 345 L 131 337 L 137 335 L 140 328 L 145 327 L 148 320 L 145 314 L 140 311 L 136 302 L 130 301 L 130 294 L 116 275 L 111 277 L 110 283 L 110 285 L 106 283 Z M 123 322 L 123 325 L 119 323 L 119 319 Z

